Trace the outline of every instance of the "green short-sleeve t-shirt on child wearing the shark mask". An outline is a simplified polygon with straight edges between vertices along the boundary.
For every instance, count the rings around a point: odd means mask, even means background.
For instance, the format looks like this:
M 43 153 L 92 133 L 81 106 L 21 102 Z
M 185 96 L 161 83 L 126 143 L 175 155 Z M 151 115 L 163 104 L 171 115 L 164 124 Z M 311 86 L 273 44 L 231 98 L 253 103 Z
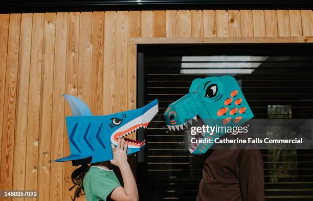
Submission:
M 92 166 L 83 179 L 87 201 L 106 200 L 108 195 L 121 186 L 113 170 Z

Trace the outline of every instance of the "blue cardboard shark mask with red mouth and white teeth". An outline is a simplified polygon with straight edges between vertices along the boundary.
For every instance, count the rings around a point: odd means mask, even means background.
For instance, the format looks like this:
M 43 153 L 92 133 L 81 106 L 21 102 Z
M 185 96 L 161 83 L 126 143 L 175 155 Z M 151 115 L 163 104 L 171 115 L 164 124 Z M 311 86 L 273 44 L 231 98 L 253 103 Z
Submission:
M 93 116 L 88 106 L 79 98 L 63 95 L 71 106 L 72 115 L 66 117 L 71 155 L 55 162 L 72 161 L 73 165 L 97 163 L 113 159 L 111 144 L 117 146 L 119 138 L 128 142 L 127 154 L 136 153 L 145 147 L 127 136 L 140 127 L 146 128 L 158 113 L 158 100 L 133 110 L 121 113 Z

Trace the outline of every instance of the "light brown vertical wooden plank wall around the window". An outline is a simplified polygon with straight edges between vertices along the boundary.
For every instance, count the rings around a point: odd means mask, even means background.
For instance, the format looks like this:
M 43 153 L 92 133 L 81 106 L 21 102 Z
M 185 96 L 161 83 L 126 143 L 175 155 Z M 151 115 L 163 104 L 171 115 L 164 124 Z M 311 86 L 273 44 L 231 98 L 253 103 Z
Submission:
M 64 117 L 71 111 L 61 95 L 78 96 L 95 115 L 136 108 L 136 44 L 129 43 L 131 37 L 216 36 L 313 36 L 313 14 L 311 10 L 0 14 L 0 189 L 38 189 L 38 200 L 70 200 L 72 165 L 52 162 L 70 153 Z

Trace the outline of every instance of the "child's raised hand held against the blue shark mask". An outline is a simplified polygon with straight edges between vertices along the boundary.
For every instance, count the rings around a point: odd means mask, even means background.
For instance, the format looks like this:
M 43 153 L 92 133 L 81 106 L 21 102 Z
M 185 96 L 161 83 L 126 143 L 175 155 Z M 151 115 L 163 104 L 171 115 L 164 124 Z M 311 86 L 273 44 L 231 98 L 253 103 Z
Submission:
M 114 144 L 111 144 L 113 151 L 113 160 L 110 160 L 111 164 L 116 165 L 118 167 L 123 166 L 127 163 L 127 147 L 128 142 L 122 138 L 119 138 L 118 147 L 115 148 Z

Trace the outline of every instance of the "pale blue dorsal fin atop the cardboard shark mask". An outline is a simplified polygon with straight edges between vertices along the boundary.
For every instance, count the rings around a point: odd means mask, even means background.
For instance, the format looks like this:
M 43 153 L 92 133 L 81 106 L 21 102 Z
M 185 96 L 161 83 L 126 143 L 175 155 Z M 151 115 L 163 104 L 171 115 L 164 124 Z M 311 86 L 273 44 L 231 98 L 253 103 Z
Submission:
M 70 104 L 73 116 L 93 116 L 89 107 L 79 98 L 66 94 L 63 97 Z

